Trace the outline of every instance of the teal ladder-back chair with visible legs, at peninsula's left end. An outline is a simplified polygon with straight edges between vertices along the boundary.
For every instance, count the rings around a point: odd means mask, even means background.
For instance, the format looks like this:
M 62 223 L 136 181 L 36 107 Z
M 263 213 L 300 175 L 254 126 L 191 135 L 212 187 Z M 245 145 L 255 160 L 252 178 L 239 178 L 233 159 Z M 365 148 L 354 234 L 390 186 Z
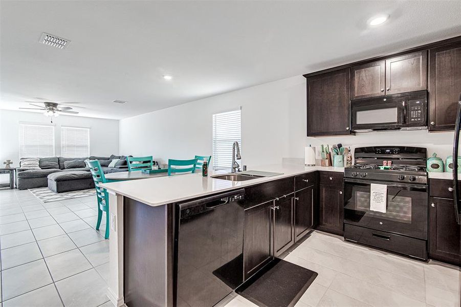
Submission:
M 86 164 L 90 167 L 93 180 L 96 188 L 96 198 L 98 200 L 98 222 L 96 222 L 96 230 L 99 230 L 101 225 L 102 212 L 105 212 L 106 224 L 105 224 L 105 235 L 106 239 L 109 238 L 109 194 L 107 190 L 100 187 L 101 183 L 107 183 L 104 172 L 102 171 L 101 164 L 98 160 L 86 160 Z

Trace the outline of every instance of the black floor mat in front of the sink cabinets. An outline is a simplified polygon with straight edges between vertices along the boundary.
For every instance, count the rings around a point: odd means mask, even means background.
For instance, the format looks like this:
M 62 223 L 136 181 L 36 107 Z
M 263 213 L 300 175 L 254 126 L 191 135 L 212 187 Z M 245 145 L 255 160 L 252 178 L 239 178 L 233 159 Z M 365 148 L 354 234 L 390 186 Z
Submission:
M 317 275 L 314 271 L 276 258 L 235 292 L 260 307 L 291 307 Z

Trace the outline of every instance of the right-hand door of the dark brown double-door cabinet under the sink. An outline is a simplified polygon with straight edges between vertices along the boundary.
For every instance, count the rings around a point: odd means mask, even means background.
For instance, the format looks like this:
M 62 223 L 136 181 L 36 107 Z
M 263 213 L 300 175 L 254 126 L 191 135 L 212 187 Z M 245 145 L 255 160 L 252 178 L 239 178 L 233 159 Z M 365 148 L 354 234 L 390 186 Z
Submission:
M 274 203 L 274 256 L 279 256 L 295 243 L 293 237 L 293 193 Z

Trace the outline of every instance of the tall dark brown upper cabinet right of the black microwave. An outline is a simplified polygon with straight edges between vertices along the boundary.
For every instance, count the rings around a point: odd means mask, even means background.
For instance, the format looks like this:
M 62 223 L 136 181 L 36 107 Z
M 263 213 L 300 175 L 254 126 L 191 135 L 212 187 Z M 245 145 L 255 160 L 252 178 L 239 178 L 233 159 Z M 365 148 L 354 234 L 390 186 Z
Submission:
M 454 129 L 461 94 L 461 42 L 429 50 L 429 130 Z

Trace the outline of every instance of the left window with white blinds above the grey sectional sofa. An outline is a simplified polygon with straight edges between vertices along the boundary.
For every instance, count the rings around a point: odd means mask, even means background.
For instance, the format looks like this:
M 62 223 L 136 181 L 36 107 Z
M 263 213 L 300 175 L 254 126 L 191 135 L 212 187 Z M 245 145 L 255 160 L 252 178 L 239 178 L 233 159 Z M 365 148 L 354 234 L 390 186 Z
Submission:
M 54 156 L 54 126 L 19 123 L 19 158 Z

